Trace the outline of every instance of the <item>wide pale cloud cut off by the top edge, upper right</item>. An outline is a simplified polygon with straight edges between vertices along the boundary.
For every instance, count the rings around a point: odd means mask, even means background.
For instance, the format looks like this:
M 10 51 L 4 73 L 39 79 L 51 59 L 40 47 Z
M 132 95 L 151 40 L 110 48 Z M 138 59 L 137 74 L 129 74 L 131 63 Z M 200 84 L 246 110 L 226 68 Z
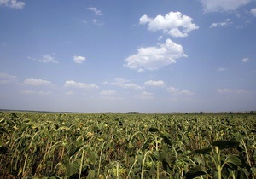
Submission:
M 252 0 L 200 0 L 205 13 L 232 11 L 247 5 Z

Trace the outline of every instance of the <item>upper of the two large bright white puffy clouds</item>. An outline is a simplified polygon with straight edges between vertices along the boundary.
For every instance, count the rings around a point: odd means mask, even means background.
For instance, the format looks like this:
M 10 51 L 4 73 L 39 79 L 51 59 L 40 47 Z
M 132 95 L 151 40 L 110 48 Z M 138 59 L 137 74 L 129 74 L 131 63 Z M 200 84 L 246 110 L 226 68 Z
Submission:
M 192 18 L 180 12 L 170 12 L 165 16 L 157 15 L 154 19 L 144 14 L 140 18 L 140 24 L 148 24 L 148 30 L 164 31 L 172 37 L 187 37 L 188 33 L 199 27 L 192 23 Z

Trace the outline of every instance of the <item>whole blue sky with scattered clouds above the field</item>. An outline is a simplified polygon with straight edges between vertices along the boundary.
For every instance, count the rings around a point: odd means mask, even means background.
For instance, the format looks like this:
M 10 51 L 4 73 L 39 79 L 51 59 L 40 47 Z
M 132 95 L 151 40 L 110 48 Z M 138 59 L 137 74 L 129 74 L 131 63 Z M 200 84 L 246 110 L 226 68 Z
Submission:
M 255 0 L 0 0 L 0 109 L 256 110 Z

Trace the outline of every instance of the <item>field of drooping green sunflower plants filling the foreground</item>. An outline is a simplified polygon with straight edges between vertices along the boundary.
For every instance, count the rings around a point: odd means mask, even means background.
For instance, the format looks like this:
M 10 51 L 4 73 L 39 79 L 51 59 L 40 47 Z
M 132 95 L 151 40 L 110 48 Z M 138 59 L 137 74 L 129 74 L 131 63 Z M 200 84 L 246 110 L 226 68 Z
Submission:
M 256 115 L 0 112 L 1 178 L 256 178 Z

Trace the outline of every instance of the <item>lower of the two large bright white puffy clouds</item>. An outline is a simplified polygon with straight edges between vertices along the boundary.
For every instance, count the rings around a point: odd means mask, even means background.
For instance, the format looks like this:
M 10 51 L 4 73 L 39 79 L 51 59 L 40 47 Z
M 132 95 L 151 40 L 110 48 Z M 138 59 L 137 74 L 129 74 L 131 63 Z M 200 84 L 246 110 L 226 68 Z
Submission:
M 166 43 L 158 43 L 155 47 L 137 49 L 136 55 L 125 59 L 125 67 L 143 72 L 144 70 L 157 70 L 160 67 L 176 63 L 181 57 L 187 57 L 183 52 L 183 46 L 166 39 Z

